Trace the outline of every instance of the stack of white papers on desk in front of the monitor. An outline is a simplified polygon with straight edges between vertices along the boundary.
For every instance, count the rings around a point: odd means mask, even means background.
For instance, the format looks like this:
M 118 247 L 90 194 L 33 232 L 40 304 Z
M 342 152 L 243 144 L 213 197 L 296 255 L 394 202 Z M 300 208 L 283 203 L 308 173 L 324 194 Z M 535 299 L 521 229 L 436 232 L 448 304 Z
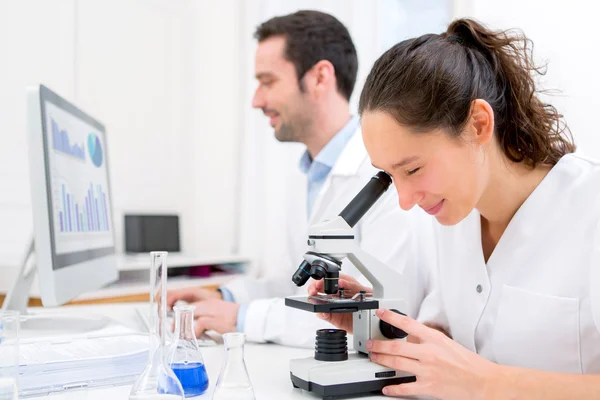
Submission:
M 20 360 L 22 397 L 83 387 L 131 384 L 148 362 L 148 335 L 22 342 Z

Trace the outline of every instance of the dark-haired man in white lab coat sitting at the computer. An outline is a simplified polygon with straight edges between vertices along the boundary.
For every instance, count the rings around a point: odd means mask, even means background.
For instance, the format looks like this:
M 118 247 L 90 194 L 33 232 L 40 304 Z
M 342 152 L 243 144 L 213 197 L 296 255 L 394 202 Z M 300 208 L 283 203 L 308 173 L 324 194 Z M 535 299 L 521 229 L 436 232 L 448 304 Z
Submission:
M 291 277 L 306 250 L 309 225 L 338 215 L 377 172 L 364 148 L 360 121 L 350 112 L 358 59 L 346 27 L 322 12 L 272 18 L 254 36 L 258 87 L 252 106 L 269 118 L 279 141 L 306 146 L 300 159 L 306 188 L 289 193 L 290 205 L 293 196 L 303 193 L 306 207 L 288 209 L 281 232 L 286 246 L 273 249 L 281 251 L 280 261 L 267 266 L 262 277 L 239 278 L 217 291 L 170 291 L 167 302 L 169 307 L 179 300 L 196 305 L 197 335 L 240 331 L 250 341 L 313 346 L 315 329 L 332 326 L 312 313 L 285 307 L 283 297 L 306 293 Z M 418 271 L 404 267 L 410 259 L 410 227 L 420 217 L 402 211 L 397 202 L 389 190 L 355 226 L 355 237 L 364 251 L 404 273 L 410 281 L 407 313 L 415 317 L 424 286 Z M 347 260 L 342 272 L 360 277 Z

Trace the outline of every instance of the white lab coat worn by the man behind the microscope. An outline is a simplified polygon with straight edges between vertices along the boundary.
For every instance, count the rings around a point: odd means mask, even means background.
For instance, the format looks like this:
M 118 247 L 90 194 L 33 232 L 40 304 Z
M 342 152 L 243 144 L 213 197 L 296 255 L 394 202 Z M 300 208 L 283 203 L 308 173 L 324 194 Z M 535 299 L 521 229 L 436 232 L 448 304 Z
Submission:
M 297 288 L 291 281 L 307 250 L 309 224 L 338 215 L 376 172 L 365 150 L 360 130 L 357 130 L 329 173 L 315 200 L 308 223 L 304 211 L 306 189 L 300 196 L 298 192 L 290 193 L 296 200 L 299 197 L 302 199 L 302 206 L 290 200 L 293 208 L 287 215 L 286 245 L 280 251 L 277 268 L 271 269 L 269 276 L 260 279 L 242 278 L 225 285 L 236 302 L 248 303 L 244 323 L 248 340 L 314 347 L 315 330 L 332 327 L 310 312 L 286 307 L 283 297 L 306 294 L 310 284 L 309 281 L 304 287 Z M 420 211 L 402 211 L 396 191 L 390 187 L 355 226 L 355 237 L 363 250 L 397 268 L 399 273 L 404 272 L 404 278 L 399 275 L 397 284 L 410 283 L 406 285 L 407 313 L 414 316 L 425 296 L 427 277 L 420 274 L 421 269 L 416 265 L 410 271 L 403 269 L 405 265 L 418 261 L 413 259 L 411 227 L 418 225 L 421 219 L 431 226 L 428 216 Z M 425 226 L 421 228 L 426 229 Z M 361 277 L 348 260 L 342 264 L 342 273 Z M 363 283 L 367 283 L 364 278 Z M 351 340 L 348 342 L 351 343 Z

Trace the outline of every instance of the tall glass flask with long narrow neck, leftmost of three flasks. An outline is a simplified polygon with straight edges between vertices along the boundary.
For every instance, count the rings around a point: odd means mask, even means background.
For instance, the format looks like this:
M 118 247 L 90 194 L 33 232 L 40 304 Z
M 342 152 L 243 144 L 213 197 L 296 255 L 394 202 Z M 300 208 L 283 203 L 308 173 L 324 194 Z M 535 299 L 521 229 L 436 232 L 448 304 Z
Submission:
M 129 400 L 183 400 L 181 383 L 166 359 L 167 252 L 155 251 L 150 256 L 150 358 L 133 384 Z

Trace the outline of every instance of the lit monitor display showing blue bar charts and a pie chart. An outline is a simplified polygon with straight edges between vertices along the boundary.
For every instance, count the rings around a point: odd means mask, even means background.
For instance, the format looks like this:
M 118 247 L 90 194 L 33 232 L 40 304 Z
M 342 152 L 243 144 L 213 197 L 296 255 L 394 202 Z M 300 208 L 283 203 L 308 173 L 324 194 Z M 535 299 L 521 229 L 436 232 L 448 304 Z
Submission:
M 46 104 L 49 190 L 57 254 L 112 245 L 105 138 Z

